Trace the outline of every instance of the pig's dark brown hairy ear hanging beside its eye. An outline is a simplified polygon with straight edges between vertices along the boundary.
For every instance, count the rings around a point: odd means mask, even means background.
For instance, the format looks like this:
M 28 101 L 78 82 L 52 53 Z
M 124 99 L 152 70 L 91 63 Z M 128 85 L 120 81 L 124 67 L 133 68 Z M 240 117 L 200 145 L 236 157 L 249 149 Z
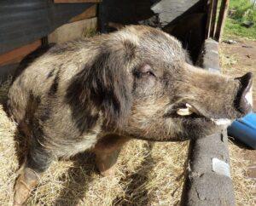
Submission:
M 103 52 L 90 68 L 90 90 L 108 123 L 122 125 L 131 111 L 131 89 L 123 56 Z

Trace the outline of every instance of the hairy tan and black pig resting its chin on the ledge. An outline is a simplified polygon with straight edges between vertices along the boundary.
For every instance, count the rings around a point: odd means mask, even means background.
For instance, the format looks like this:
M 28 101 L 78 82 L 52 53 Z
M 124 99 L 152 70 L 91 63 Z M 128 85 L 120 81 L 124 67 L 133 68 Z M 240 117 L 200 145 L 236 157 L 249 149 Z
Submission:
M 175 37 L 148 26 L 55 45 L 15 77 L 9 116 L 26 134 L 14 205 L 49 164 L 90 150 L 113 175 L 131 138 L 179 141 L 223 129 L 252 110 L 252 73 L 225 77 L 192 66 Z

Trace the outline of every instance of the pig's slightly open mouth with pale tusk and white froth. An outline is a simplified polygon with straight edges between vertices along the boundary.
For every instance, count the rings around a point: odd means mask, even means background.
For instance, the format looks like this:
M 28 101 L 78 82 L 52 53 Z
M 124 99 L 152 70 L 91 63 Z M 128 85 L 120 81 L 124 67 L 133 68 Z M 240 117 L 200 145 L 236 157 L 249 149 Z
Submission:
M 193 119 L 202 119 L 205 122 L 213 123 L 217 126 L 229 125 L 231 123 L 229 118 L 207 117 L 189 103 L 179 104 L 176 108 L 172 108 L 171 111 L 167 112 L 166 117 L 181 117 L 191 121 L 193 121 Z

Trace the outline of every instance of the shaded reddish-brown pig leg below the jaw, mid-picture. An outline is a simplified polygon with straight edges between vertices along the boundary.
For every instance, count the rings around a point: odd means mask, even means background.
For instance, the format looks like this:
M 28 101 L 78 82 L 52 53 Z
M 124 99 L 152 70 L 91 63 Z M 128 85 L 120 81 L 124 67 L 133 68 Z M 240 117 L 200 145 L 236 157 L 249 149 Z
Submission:
M 107 135 L 96 143 L 96 165 L 103 176 L 114 175 L 114 166 L 117 162 L 121 147 L 129 138 L 119 135 Z

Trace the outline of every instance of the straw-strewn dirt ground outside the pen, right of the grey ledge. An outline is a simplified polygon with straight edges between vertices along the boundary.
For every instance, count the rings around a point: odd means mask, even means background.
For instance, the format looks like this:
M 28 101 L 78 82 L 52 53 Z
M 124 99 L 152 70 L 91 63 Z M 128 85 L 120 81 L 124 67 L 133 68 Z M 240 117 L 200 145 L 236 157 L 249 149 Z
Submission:
M 231 77 L 240 77 L 246 72 L 253 72 L 253 111 L 256 112 L 256 42 L 233 38 L 236 43 L 220 43 L 223 73 Z M 256 205 L 256 151 L 241 143 L 230 142 L 231 166 L 240 169 L 233 175 L 236 196 L 245 197 L 245 202 L 236 198 L 238 205 Z M 242 169 L 243 168 L 243 169 Z M 233 171 L 234 174 L 234 171 Z M 241 183 L 241 178 L 244 178 Z M 246 198 L 253 198 L 249 202 Z

